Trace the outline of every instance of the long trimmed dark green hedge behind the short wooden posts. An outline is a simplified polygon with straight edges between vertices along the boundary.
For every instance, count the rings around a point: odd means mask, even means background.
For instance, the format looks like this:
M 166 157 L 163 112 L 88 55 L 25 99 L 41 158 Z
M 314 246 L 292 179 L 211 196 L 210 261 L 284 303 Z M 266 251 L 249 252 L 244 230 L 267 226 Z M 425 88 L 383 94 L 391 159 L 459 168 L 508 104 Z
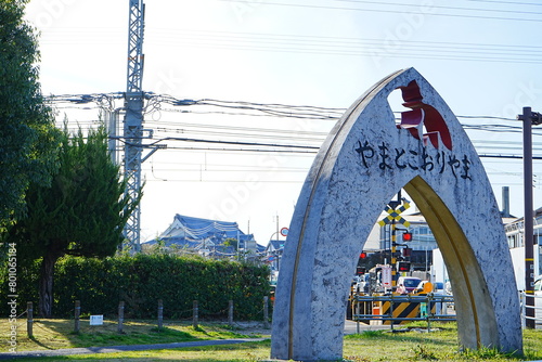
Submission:
M 21 290 L 21 307 L 26 300 L 37 305 L 35 272 L 37 268 L 18 281 L 34 285 Z M 198 301 L 201 318 L 225 318 L 228 301 L 233 300 L 235 319 L 261 320 L 262 299 L 270 293 L 268 281 L 268 267 L 235 261 L 168 255 L 102 260 L 66 257 L 55 267 L 53 314 L 73 316 L 75 300 L 80 300 L 82 314 L 107 318 L 117 314 L 118 302 L 124 300 L 126 318 L 154 319 L 157 301 L 163 299 L 167 319 L 190 318 L 193 300 Z

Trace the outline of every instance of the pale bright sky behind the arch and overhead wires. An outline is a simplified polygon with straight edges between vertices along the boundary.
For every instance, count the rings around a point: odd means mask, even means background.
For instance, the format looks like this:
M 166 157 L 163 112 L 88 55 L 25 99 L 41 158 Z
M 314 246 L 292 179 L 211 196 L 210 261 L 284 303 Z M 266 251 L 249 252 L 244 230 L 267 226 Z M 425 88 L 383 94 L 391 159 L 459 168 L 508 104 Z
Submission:
M 144 91 L 222 106 L 149 107 L 145 129 L 168 147 L 142 166 L 142 241 L 159 235 L 176 214 L 235 221 L 263 245 L 288 227 L 314 153 L 171 138 L 318 147 L 335 120 L 273 117 L 237 102 L 347 108 L 379 79 L 415 67 L 479 154 L 514 156 L 522 152 L 516 115 L 524 106 L 542 112 L 542 3 L 534 0 L 146 0 L 145 7 Z M 43 94 L 126 91 L 128 9 L 128 0 L 29 1 Z M 389 102 L 402 108 L 397 94 Z M 91 105 L 56 106 L 70 125 L 99 118 Z M 533 154 L 542 156 L 542 130 L 534 129 Z M 511 211 L 521 217 L 522 160 L 482 161 L 501 208 L 502 188 L 509 186 Z M 533 173 L 538 208 L 540 160 Z

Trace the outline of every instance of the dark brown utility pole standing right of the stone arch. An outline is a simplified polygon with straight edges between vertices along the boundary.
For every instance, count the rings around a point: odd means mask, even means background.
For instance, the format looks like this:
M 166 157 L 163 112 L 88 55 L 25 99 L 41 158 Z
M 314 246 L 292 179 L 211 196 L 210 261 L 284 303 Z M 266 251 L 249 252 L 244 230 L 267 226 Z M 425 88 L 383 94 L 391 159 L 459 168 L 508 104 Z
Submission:
M 542 122 L 542 116 L 524 107 L 524 113 L 517 116 L 524 122 L 524 246 L 525 246 L 525 294 L 526 294 L 526 327 L 534 328 L 534 256 L 533 256 L 533 211 L 532 211 L 532 125 Z

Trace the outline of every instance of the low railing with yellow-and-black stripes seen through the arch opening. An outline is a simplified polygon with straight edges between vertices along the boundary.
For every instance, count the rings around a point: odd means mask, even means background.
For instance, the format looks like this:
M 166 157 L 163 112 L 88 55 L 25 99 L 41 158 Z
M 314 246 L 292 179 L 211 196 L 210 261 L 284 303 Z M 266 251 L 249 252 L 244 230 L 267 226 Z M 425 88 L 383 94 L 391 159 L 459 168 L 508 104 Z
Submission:
M 354 294 L 351 302 L 354 322 L 379 321 L 383 324 L 389 323 L 391 329 L 395 324 L 410 321 L 425 321 L 428 329 L 431 321 L 455 321 L 455 314 L 448 314 L 448 306 L 453 305 L 453 297 L 448 295 Z

